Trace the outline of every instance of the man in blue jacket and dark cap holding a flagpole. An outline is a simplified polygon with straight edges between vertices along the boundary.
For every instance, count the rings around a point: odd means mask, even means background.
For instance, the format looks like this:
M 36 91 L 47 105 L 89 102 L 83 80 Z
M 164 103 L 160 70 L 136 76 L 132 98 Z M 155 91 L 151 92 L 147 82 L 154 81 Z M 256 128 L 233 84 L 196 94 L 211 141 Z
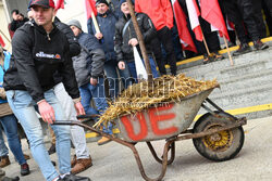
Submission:
M 111 12 L 109 3 L 106 0 L 97 0 L 96 8 L 98 12 L 97 22 L 101 33 L 96 33 L 91 18 L 88 20 L 88 33 L 94 35 L 99 40 L 99 43 L 104 51 L 104 72 L 110 83 L 110 95 L 111 98 L 114 98 L 120 93 L 118 72 L 123 80 L 125 89 L 129 86 L 129 83 L 126 83 L 125 80 L 131 77 L 131 73 L 127 68 L 118 68 L 116 54 L 114 51 L 114 27 L 118 22 L 118 17 Z

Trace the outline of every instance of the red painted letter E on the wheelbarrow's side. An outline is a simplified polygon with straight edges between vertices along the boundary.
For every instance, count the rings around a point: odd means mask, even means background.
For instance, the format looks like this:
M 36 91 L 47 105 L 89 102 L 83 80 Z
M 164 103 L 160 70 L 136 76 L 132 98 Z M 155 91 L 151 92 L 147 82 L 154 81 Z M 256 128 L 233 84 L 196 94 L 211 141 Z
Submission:
M 175 118 L 175 114 L 174 113 L 168 113 L 168 114 L 164 114 L 164 115 L 157 115 L 157 113 L 159 113 L 161 111 L 171 109 L 171 108 L 173 108 L 173 106 L 174 106 L 174 104 L 171 104 L 170 106 L 150 108 L 148 111 L 151 128 L 152 128 L 154 134 L 157 134 L 157 135 L 165 135 L 165 134 L 171 134 L 171 133 L 174 133 L 174 132 L 178 131 L 178 128 L 176 128 L 176 127 L 171 127 L 171 128 L 165 128 L 165 129 L 159 129 L 159 127 L 158 127 L 159 121 L 172 120 L 173 118 Z

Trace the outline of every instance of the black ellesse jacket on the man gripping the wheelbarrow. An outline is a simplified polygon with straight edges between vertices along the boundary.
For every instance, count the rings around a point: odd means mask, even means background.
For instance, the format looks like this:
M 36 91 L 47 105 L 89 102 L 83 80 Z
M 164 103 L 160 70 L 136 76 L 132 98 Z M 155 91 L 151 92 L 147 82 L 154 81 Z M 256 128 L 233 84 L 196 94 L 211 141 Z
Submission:
M 67 93 L 73 99 L 79 98 L 65 35 L 55 25 L 47 34 L 41 26 L 27 22 L 12 39 L 12 59 L 4 75 L 4 89 L 27 90 L 38 102 L 44 99 L 45 91 L 57 85 L 55 72 L 62 76 Z

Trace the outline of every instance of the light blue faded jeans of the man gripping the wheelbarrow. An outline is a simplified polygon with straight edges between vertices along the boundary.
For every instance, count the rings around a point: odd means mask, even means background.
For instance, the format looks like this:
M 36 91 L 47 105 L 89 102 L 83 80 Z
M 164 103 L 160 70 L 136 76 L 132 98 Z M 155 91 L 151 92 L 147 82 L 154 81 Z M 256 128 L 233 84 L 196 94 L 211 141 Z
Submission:
M 53 107 L 55 121 L 66 120 L 62 107 L 55 98 L 53 90 L 50 89 L 44 93 L 46 101 Z M 38 164 L 47 181 L 52 181 L 59 176 L 44 142 L 42 128 L 35 111 L 36 103 L 27 91 L 9 90 L 7 99 L 10 107 L 21 122 L 26 137 L 29 140 L 30 151 L 34 159 Z M 51 125 L 55 138 L 55 148 L 59 157 L 59 171 L 61 174 L 71 171 L 71 144 L 70 144 L 70 126 Z

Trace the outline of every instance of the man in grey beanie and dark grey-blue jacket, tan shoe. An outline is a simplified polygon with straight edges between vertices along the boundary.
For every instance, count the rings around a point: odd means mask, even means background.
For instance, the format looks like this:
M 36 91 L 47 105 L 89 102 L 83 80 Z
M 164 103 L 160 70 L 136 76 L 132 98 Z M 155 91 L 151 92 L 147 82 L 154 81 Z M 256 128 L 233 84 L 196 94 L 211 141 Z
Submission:
M 104 53 L 95 36 L 82 30 L 78 21 L 72 20 L 67 23 L 82 46 L 82 52 L 73 57 L 73 65 L 77 83 L 81 91 L 82 104 L 87 115 L 94 114 L 90 100 L 94 99 L 98 114 L 107 109 L 108 103 L 104 96 L 103 64 Z M 103 132 L 113 134 L 112 125 L 103 126 Z M 102 137 L 98 140 L 98 145 L 106 144 L 111 140 Z

